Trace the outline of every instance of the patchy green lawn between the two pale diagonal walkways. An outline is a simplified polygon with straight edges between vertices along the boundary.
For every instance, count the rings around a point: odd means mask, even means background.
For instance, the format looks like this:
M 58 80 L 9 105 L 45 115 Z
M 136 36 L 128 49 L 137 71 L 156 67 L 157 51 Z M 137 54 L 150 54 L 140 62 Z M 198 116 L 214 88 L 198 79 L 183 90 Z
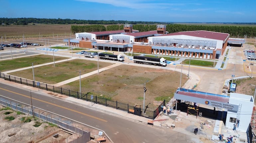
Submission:
M 112 65 L 112 63 L 99 62 L 99 68 Z M 95 71 L 98 69 L 97 61 L 74 59 L 70 61 L 55 63 L 34 68 L 35 80 L 48 84 L 56 84 L 67 79 Z M 33 80 L 33 69 L 26 69 L 9 73 L 10 75 Z

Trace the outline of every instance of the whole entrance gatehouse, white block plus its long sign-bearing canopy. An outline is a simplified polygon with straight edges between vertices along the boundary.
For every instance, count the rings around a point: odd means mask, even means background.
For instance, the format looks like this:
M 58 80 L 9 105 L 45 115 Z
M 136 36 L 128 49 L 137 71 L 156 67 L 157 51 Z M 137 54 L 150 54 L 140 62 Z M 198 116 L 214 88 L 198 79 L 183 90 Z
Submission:
M 192 89 L 178 88 L 174 94 L 174 98 L 198 103 L 198 106 L 207 106 L 207 108 L 211 109 L 212 114 L 215 112 L 215 110 L 213 110 L 214 107 L 226 112 L 226 116 L 224 116 L 226 118 L 222 120 L 225 123 L 225 126 L 233 127 L 233 124 L 237 123 L 237 120 L 239 120 L 237 130 L 241 132 L 246 132 L 248 125 L 251 122 L 254 105 L 254 99 L 251 95 L 230 92 L 229 96 L 225 96 Z M 177 104 L 177 106 L 178 105 L 179 104 Z M 193 107 L 188 107 L 188 110 L 189 108 Z M 196 117 L 197 116 L 198 113 Z M 223 117 L 223 113 L 221 116 Z

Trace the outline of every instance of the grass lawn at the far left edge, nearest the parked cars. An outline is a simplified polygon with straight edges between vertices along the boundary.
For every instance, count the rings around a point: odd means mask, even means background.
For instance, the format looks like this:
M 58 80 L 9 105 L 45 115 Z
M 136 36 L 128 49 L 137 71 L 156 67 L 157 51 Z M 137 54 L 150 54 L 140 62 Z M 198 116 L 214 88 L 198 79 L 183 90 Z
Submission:
M 68 59 L 67 57 L 61 57 L 61 56 L 54 56 L 54 60 L 63 60 Z M 27 57 L 21 57 L 16 58 L 13 60 L 2 60 L 0 61 L 0 72 L 29 67 L 33 65 L 39 65 L 43 63 L 53 62 L 53 56 L 52 55 L 33 55 L 33 56 L 27 56 Z

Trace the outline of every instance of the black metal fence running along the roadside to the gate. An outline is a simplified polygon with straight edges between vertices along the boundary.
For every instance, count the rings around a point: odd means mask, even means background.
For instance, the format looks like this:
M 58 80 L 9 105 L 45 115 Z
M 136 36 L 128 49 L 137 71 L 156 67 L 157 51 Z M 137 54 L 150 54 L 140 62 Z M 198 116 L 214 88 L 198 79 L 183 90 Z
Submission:
M 24 78 L 12 76 L 12 75 L 5 75 L 3 73 L 0 73 L 0 78 L 3 78 L 4 80 L 8 80 L 8 81 L 11 81 L 11 82 L 19 83 L 19 84 L 32 86 L 32 87 L 37 87 L 39 89 L 44 89 L 44 90 L 47 90 L 47 91 L 52 91 L 54 93 L 59 93 L 59 94 L 75 97 L 77 99 L 80 98 L 82 100 L 92 101 L 93 103 L 101 104 L 101 105 L 112 107 L 112 108 L 116 108 L 118 110 L 123 110 L 123 111 L 129 112 L 129 109 L 134 109 L 134 106 L 131 106 L 131 105 L 126 104 L 126 103 L 118 102 L 118 101 L 108 100 L 107 98 L 102 97 L 102 96 L 95 96 L 91 100 L 91 96 L 88 95 L 87 93 L 81 93 L 81 96 L 80 96 L 79 91 L 65 89 L 65 88 L 62 88 L 62 87 L 54 87 L 53 85 L 40 83 L 40 82 L 34 82 L 33 80 L 28 80 L 28 79 L 24 79 Z M 155 119 L 159 115 L 159 113 L 161 112 L 161 108 L 164 105 L 165 105 L 165 101 L 163 103 L 161 103 L 161 105 L 155 111 L 146 110 L 145 114 L 143 116 L 146 117 L 146 118 L 149 118 L 149 119 Z M 141 112 L 143 112 L 143 111 L 141 111 Z M 139 114 L 139 116 L 140 115 L 141 114 Z

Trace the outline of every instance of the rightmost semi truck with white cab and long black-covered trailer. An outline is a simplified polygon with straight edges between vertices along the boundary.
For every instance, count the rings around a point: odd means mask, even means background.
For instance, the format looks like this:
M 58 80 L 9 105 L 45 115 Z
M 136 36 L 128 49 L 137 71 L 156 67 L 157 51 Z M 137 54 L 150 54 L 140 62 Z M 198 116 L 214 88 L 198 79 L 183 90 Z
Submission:
M 165 58 L 147 57 L 147 56 L 133 56 L 133 61 L 139 64 L 151 64 L 158 66 L 167 66 L 167 60 Z

